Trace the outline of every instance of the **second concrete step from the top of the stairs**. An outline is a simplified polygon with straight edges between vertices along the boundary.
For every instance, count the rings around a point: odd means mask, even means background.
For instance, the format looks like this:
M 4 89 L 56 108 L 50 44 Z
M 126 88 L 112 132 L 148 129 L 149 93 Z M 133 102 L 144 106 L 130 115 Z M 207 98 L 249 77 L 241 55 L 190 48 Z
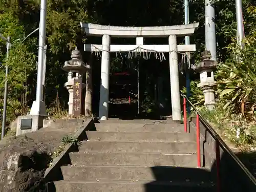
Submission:
M 194 142 L 193 133 L 96 132 L 87 131 L 90 141 Z

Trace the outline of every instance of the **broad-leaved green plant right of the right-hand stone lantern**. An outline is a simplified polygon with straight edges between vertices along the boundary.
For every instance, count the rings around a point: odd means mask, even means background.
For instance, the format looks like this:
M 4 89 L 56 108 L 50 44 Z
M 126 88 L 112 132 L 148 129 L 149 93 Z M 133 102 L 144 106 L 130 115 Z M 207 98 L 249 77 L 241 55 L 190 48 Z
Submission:
M 218 68 L 219 100 L 230 113 L 254 118 L 256 107 L 256 36 L 245 39 L 245 49 L 236 44 L 228 48 L 232 57 Z M 238 54 L 240 52 L 240 54 Z

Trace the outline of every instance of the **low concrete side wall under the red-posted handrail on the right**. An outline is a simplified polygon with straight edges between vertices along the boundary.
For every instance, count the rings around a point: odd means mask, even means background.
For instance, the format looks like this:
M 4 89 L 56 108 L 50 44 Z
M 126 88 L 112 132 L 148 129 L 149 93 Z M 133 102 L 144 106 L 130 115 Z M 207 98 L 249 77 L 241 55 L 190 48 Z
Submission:
M 196 133 L 196 118 L 192 118 L 189 122 L 189 129 L 190 132 Z M 215 178 L 217 181 L 216 140 L 206 129 L 206 125 L 202 121 L 200 121 L 200 134 L 201 153 L 203 153 L 202 162 L 206 167 L 210 168 L 212 178 Z M 220 144 L 221 191 L 256 191 L 256 185 L 246 174 L 248 169 L 245 166 L 241 167 L 237 162 L 240 160 L 234 158 L 233 155 L 235 155 L 233 152 L 230 153 L 229 150 L 226 150 L 225 146 Z

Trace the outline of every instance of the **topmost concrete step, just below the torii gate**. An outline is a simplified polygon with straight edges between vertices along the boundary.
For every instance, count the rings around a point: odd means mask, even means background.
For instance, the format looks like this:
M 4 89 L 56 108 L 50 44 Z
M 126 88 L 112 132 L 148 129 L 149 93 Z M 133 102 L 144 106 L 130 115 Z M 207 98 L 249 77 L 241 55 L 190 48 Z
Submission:
M 183 124 L 95 123 L 101 132 L 184 132 Z

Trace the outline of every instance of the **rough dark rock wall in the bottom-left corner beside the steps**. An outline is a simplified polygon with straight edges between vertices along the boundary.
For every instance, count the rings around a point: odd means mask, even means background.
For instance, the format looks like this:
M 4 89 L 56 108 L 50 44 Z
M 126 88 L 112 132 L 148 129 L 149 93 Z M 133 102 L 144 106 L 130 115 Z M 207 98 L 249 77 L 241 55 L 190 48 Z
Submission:
M 42 150 L 26 153 L 2 152 L 0 191 L 45 191 L 44 173 L 51 161 L 50 154 Z

